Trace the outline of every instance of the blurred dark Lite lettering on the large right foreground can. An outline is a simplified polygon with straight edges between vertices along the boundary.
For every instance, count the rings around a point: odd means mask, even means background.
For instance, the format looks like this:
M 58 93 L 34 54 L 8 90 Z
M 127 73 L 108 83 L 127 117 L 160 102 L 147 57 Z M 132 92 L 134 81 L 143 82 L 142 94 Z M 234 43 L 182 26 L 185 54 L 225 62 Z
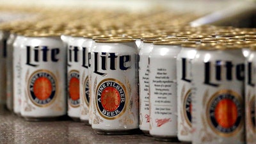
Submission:
M 238 81 L 244 80 L 244 63 L 234 65 L 232 61 L 217 60 L 215 63 L 209 61 L 204 63 L 204 65 L 204 84 L 216 87 L 220 86 L 218 81 L 232 81 L 233 79 L 237 79 Z M 234 74 L 233 71 L 236 73 Z M 211 72 L 213 72 L 213 74 L 211 74 Z

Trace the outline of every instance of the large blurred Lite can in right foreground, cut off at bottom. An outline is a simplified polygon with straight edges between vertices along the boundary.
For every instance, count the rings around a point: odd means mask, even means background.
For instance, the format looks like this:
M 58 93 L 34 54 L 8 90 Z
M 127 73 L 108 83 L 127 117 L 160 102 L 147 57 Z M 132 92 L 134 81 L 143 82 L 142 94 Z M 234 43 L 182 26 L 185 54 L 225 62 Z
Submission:
M 200 45 L 192 60 L 192 143 L 244 141 L 244 61 L 234 45 Z

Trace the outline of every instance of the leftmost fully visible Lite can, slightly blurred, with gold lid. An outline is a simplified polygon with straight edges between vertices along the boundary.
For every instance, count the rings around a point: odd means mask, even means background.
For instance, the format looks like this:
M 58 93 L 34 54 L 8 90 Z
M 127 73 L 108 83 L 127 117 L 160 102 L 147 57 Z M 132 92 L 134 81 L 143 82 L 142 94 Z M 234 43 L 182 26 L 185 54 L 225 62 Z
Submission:
M 26 33 L 20 45 L 21 116 L 26 120 L 51 120 L 67 113 L 65 68 L 67 50 L 60 35 Z

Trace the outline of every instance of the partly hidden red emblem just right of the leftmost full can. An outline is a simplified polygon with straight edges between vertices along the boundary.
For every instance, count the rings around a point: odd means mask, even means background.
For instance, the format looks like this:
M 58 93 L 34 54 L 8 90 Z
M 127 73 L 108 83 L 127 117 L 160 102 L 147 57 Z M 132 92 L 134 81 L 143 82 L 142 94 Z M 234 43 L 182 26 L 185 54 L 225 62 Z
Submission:
M 79 72 L 72 70 L 68 74 L 68 102 L 72 107 L 78 107 L 79 100 Z

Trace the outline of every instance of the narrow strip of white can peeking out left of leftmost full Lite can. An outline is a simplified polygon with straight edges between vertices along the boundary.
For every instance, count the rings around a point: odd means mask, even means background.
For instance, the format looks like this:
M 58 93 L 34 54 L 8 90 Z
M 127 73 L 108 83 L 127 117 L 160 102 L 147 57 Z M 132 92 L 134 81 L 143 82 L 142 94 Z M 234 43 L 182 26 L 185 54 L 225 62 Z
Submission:
M 26 40 L 26 36 L 22 33 L 17 33 L 17 36 L 13 42 L 13 112 L 20 115 L 20 105 L 21 105 L 21 54 L 20 50 L 22 43 Z

